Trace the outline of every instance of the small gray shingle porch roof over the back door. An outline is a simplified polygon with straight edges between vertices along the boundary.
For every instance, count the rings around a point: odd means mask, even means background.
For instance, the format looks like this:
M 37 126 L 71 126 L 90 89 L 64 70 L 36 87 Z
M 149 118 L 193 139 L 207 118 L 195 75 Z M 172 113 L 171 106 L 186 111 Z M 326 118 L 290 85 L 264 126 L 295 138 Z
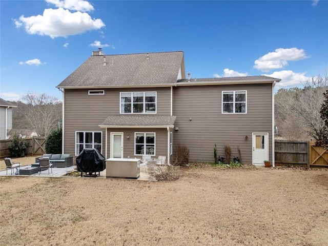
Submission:
M 176 116 L 167 115 L 110 115 L 100 126 L 174 126 Z

